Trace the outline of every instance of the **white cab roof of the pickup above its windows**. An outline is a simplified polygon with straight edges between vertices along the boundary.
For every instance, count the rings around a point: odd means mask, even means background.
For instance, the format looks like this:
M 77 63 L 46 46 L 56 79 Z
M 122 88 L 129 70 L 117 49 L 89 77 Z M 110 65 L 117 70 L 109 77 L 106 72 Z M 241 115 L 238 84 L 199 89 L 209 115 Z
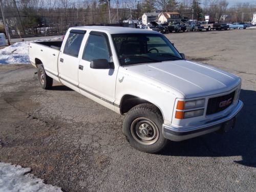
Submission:
M 89 31 L 99 31 L 109 34 L 119 34 L 119 33 L 149 33 L 149 34 L 159 34 L 159 32 L 146 30 L 146 29 L 134 29 L 129 27 L 110 27 L 110 26 L 81 26 L 72 27 L 70 30 L 89 30 Z

